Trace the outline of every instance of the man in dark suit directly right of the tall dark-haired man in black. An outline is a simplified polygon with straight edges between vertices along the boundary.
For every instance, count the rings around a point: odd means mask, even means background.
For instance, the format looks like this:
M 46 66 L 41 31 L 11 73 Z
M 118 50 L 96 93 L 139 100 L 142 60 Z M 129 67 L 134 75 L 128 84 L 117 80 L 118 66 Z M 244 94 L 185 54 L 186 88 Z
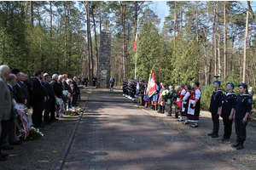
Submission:
M 50 124 L 50 120 L 49 120 L 49 112 L 51 117 L 52 114 L 53 116 L 55 115 L 55 112 L 52 112 L 52 108 L 55 105 L 55 99 L 57 96 L 55 96 L 55 91 L 54 88 L 52 87 L 52 85 L 49 84 L 49 82 L 51 81 L 51 78 L 49 77 L 49 75 L 45 75 L 44 76 L 44 87 L 46 88 L 48 94 L 49 94 L 49 99 L 46 101 L 46 105 L 45 105 L 45 110 L 44 110 L 44 124 Z

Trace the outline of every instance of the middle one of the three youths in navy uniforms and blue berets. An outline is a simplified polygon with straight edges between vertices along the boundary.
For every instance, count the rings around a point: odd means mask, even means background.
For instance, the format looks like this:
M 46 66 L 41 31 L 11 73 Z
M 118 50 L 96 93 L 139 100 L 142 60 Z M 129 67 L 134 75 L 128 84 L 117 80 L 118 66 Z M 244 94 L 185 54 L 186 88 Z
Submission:
M 224 143 L 230 143 L 230 135 L 232 132 L 233 116 L 237 99 L 236 94 L 233 92 L 234 87 L 235 85 L 233 82 L 228 82 L 226 84 L 226 93 L 222 98 L 221 116 L 224 123 L 224 135 L 220 141 L 223 141 Z

